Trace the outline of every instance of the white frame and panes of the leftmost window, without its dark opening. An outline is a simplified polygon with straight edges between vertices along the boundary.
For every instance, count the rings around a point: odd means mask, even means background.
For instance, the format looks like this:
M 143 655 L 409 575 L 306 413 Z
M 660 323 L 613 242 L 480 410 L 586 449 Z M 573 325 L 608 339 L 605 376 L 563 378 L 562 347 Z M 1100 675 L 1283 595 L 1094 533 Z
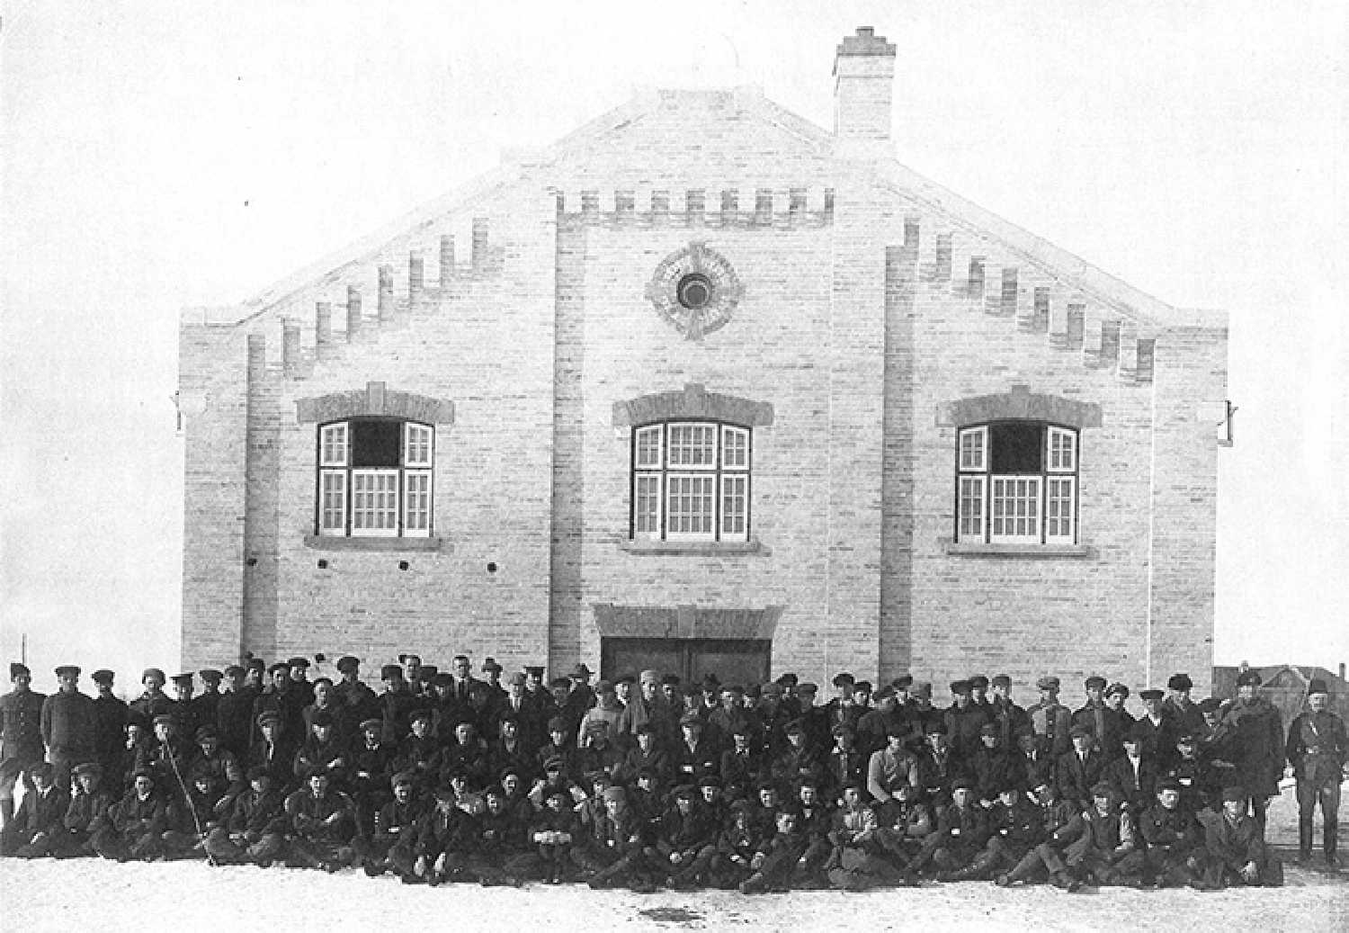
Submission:
M 430 537 L 434 533 L 436 428 L 399 419 L 399 464 L 356 467 L 351 463 L 351 424 L 352 420 L 318 425 L 317 533 L 322 537 Z M 367 489 L 371 483 L 379 489 Z M 367 506 L 367 496 L 379 498 L 379 505 Z M 375 516 L 379 520 L 367 524 Z

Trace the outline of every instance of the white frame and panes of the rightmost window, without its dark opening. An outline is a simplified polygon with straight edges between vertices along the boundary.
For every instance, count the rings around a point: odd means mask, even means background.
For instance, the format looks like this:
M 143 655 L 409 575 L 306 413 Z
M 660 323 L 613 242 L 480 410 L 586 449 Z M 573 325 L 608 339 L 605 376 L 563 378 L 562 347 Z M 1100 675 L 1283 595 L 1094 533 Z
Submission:
M 1045 421 L 1032 423 L 1044 429 L 1040 473 L 994 474 L 989 424 L 956 432 L 958 544 L 1077 544 L 1081 432 Z M 1009 485 L 1018 487 L 1010 496 L 1006 494 Z M 1013 512 L 1024 514 L 1006 514 L 1008 504 L 1013 504 Z

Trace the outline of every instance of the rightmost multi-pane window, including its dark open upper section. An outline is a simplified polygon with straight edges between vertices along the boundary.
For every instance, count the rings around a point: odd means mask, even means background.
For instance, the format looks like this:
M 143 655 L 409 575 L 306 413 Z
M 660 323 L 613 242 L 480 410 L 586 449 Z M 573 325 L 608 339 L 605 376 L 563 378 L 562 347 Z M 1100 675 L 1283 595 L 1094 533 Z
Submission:
M 1078 432 L 1043 421 L 963 428 L 955 498 L 960 543 L 1077 543 Z

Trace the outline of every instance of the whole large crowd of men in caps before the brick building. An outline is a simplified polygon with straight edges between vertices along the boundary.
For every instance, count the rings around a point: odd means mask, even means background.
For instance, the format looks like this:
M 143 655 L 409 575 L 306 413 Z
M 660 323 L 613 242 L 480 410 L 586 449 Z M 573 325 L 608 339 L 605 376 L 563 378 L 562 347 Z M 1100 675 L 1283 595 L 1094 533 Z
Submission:
M 1346 759 L 1344 722 L 1313 681 L 1287 736 L 1244 671 L 1237 697 L 1191 699 L 1091 676 L 1085 702 L 1044 676 L 1023 708 L 1006 676 L 952 682 L 951 702 L 900 676 L 850 674 L 834 695 L 785 674 L 742 689 L 642 671 L 591 683 L 577 664 L 502 679 L 413 654 L 309 679 L 252 659 L 166 678 L 131 703 L 113 674 L 57 668 L 32 691 L 11 664 L 0 697 L 0 853 L 202 857 L 386 872 L 436 886 L 584 880 L 594 887 L 863 890 L 939 882 L 1136 887 L 1278 884 L 1268 799 L 1295 768 L 1302 860 L 1314 807 L 1327 867 Z M 196 681 L 204 691 L 196 691 Z M 26 793 L 18 811 L 15 786 Z

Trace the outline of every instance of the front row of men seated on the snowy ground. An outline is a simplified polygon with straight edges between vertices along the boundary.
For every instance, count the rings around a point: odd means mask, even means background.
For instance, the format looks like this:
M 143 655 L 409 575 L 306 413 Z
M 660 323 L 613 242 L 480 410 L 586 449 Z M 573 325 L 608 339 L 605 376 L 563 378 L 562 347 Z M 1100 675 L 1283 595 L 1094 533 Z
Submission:
M 714 775 L 662 793 L 649 768 L 630 783 L 603 770 L 575 782 L 554 756 L 533 786 L 521 771 L 506 768 L 486 787 L 463 768 L 429 787 L 401 771 L 387 793 L 362 802 L 360 791 L 340 790 L 321 764 L 290 793 L 263 766 L 248 771 L 240 790 L 200 762 L 185 776 L 175 772 L 177 783 L 138 767 L 120 791 L 89 762 L 76 766 L 67 793 L 42 763 L 32 770 L 34 790 L 0 832 L 0 853 L 359 865 L 371 876 L 394 872 L 430 886 L 584 880 L 745 894 L 923 879 L 1048 880 L 1068 891 L 1083 883 L 1199 890 L 1282 883 L 1282 865 L 1267 852 L 1241 787 L 1222 789 L 1213 801 L 1187 799 L 1186 784 L 1163 778 L 1149 801 L 1130 805 L 1106 782 L 1083 802 L 1044 776 L 1004 778 L 981 793 L 963 774 L 938 787 L 905 775 L 885 786 L 882 799 L 855 779 L 836 795 L 809 776 L 785 793 L 762 780 L 727 794 Z

